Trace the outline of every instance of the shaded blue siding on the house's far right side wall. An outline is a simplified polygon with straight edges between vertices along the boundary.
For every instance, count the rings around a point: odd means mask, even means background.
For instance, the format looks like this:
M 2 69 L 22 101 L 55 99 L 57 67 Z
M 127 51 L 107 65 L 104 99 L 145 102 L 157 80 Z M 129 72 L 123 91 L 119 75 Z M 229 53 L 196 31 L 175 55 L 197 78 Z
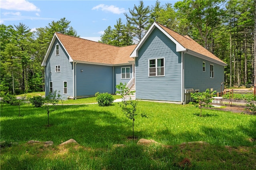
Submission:
M 203 61 L 205 62 L 205 72 L 203 72 Z M 214 78 L 210 78 L 210 64 L 214 65 Z M 185 89 L 199 89 L 200 92 L 203 92 L 213 88 L 214 91 L 220 92 L 222 82 L 224 82 L 224 66 L 193 55 L 184 55 Z

